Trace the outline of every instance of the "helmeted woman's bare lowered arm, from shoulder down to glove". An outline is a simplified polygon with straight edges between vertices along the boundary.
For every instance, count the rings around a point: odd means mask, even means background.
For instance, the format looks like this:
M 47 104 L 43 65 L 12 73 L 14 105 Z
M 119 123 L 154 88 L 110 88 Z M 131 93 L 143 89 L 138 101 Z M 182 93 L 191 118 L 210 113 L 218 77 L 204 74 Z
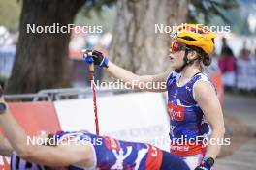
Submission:
M 209 141 L 211 139 L 214 143 L 209 142 L 206 156 L 216 158 L 221 148 L 221 145 L 218 145 L 221 143 L 217 142 L 217 140 L 221 141 L 225 133 L 223 113 L 219 100 L 214 89 L 205 81 L 199 81 L 195 84 L 194 93 L 195 99 L 203 110 L 212 130 Z

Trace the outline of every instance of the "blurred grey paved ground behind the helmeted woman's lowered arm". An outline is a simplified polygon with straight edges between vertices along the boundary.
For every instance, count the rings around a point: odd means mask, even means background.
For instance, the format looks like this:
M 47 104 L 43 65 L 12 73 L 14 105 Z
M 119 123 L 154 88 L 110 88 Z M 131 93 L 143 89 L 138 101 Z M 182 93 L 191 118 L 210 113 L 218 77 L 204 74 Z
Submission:
M 225 94 L 223 113 L 232 146 L 216 161 L 216 170 L 256 170 L 256 97 Z

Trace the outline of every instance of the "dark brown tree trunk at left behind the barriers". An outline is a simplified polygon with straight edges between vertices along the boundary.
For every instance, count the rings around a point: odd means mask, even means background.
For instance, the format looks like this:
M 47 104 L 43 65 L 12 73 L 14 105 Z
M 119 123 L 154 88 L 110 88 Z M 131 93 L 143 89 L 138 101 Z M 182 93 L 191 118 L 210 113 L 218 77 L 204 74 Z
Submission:
M 34 93 L 69 86 L 70 33 L 27 34 L 27 24 L 68 25 L 85 0 L 23 0 L 19 39 L 8 93 Z

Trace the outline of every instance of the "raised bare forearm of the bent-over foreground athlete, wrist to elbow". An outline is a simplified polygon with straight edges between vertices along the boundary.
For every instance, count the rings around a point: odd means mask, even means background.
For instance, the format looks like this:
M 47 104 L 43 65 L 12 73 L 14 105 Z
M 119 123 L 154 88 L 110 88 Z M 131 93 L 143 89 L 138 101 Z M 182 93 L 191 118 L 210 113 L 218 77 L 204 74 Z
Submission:
M 27 135 L 17 124 L 10 110 L 7 110 L 6 113 L 0 115 L 0 124 L 4 129 L 9 142 L 19 156 L 30 151 L 30 147 L 27 145 Z

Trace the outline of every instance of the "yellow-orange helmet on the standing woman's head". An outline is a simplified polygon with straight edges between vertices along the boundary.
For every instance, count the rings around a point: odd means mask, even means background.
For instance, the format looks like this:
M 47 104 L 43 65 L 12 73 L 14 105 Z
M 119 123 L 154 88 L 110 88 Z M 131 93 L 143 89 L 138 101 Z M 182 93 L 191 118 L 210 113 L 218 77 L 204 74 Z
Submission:
M 214 48 L 216 34 L 210 32 L 207 26 L 201 24 L 181 24 L 171 34 L 171 37 L 186 45 L 202 48 L 210 54 Z

